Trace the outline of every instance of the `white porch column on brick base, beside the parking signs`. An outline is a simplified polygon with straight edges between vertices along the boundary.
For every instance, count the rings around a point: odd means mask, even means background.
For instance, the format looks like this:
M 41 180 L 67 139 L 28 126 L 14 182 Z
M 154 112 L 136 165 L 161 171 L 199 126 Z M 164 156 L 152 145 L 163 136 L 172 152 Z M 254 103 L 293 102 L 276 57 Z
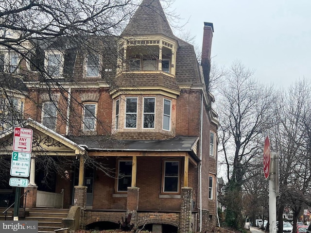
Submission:
M 31 156 L 30 161 L 30 174 L 28 187 L 24 188 L 23 204 L 26 208 L 35 208 L 37 202 L 37 189 L 38 186 L 35 184 L 35 155 Z

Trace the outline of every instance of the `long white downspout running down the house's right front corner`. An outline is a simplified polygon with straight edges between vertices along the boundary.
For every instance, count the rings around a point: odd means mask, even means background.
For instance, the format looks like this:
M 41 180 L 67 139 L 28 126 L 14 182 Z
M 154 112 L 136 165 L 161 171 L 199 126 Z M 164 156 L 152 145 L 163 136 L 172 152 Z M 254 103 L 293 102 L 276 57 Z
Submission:
M 203 135 L 203 94 L 201 95 L 200 116 L 200 163 L 199 163 L 199 187 L 200 187 L 200 230 L 202 232 L 202 135 Z

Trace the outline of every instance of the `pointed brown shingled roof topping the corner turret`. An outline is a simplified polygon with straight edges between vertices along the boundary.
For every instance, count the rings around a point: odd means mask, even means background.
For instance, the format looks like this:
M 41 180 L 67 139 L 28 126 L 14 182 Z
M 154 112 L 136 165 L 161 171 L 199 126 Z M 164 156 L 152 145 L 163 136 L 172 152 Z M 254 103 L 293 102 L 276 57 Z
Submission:
M 175 38 L 159 0 L 143 0 L 121 36 L 150 34 Z

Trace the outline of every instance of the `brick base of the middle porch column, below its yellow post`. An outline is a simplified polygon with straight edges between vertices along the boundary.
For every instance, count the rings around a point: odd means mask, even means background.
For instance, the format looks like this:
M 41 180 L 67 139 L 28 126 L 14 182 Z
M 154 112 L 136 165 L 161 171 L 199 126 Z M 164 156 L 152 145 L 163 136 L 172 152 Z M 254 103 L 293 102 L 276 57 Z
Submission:
M 132 214 L 130 223 L 134 225 L 136 225 L 137 221 L 138 198 L 139 188 L 127 187 L 126 215 Z

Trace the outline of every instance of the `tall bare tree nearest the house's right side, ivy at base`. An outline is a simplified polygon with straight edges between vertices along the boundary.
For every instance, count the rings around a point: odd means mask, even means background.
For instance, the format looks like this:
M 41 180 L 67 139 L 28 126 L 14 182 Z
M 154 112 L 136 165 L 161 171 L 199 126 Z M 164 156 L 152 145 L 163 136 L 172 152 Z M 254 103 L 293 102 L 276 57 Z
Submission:
M 241 193 L 243 183 L 250 179 L 247 175 L 261 167 L 263 140 L 273 123 L 274 89 L 259 84 L 253 73 L 241 62 L 234 62 L 219 91 L 219 136 L 227 170 L 227 197 Z M 235 205 L 242 206 L 242 199 L 237 201 Z M 241 212 L 234 212 L 231 218 L 240 219 L 240 215 Z M 243 221 L 228 223 L 239 228 Z

